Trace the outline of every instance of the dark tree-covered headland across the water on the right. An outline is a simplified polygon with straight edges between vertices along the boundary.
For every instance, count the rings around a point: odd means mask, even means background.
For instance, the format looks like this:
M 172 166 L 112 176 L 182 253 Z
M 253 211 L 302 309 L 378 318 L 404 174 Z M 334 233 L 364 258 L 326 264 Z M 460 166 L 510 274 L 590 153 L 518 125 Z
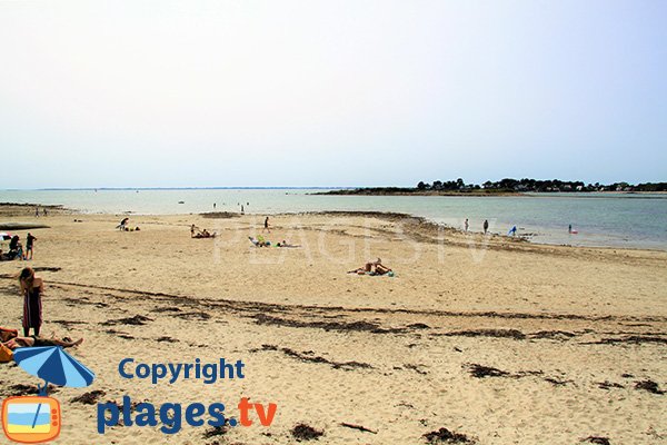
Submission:
M 645 182 L 631 185 L 628 182 L 614 184 L 585 184 L 584 181 L 561 181 L 558 179 L 512 179 L 505 178 L 499 181 L 486 181 L 479 184 L 466 184 L 462 178 L 457 180 L 440 181 L 432 184 L 420 181 L 417 187 L 372 187 L 349 190 L 335 190 L 332 195 L 409 195 L 409 194 L 516 194 L 516 192 L 558 192 L 558 191 L 667 191 L 667 182 Z

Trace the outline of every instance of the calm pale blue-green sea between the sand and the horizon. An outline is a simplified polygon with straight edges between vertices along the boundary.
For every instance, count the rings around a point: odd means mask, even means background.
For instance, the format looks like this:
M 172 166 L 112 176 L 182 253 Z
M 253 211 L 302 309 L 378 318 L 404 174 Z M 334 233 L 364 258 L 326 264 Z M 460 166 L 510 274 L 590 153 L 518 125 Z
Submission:
M 0 201 L 60 204 L 83 212 L 270 215 L 322 210 L 395 211 L 498 234 L 516 225 L 535 243 L 667 249 L 667 195 L 549 194 L 517 197 L 318 196 L 311 189 L 2 190 Z M 181 202 L 182 204 L 179 204 Z M 573 225 L 578 235 L 568 234 Z

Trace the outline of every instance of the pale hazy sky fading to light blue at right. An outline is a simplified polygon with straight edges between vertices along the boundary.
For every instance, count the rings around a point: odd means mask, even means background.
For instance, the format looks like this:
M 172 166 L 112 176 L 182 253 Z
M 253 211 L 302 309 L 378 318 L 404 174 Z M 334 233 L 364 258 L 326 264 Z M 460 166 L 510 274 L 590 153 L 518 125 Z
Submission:
M 667 181 L 661 0 L 0 1 L 0 189 Z

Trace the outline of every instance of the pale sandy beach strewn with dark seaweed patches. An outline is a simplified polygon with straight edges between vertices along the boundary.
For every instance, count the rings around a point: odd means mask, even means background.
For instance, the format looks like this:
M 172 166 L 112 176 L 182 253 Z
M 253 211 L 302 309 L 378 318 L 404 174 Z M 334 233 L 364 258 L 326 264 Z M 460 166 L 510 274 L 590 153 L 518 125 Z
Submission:
M 46 284 L 42 333 L 83 337 L 68 350 L 97 375 L 52 392 L 60 443 L 667 443 L 667 253 L 361 214 L 273 216 L 263 236 L 301 247 L 257 248 L 248 237 L 262 235 L 263 216 L 130 216 L 140 231 L 119 231 L 121 215 L 2 208 L 2 222 L 49 228 L 12 230 L 37 241 L 33 260 L 0 263 L 1 325 L 20 328 L 16 276 L 33 267 Z M 192 239 L 191 224 L 218 237 Z M 394 277 L 347 274 L 378 257 Z M 119 375 L 126 357 L 241 359 L 245 378 L 152 385 Z M 3 398 L 40 383 L 0 368 Z M 101 392 L 91 404 L 72 402 L 90 392 Z M 230 415 L 241 397 L 278 408 L 269 427 L 99 435 L 97 403 L 123 396 L 221 402 Z

